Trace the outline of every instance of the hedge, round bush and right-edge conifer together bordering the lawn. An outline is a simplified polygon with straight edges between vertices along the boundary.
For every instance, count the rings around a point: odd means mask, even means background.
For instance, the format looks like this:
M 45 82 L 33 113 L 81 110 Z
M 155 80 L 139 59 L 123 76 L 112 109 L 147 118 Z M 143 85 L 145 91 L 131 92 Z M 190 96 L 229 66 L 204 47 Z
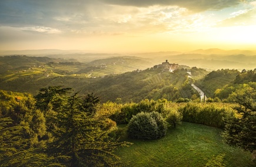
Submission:
M 148 99 L 126 104 L 108 102 L 102 111 L 112 113 L 109 118 L 117 123 L 128 123 L 127 129 L 116 133 L 119 137 L 127 132 L 131 138 L 161 138 L 166 132 L 165 121 L 174 128 L 185 121 L 224 129 L 222 137 L 228 145 L 239 146 L 254 157 L 256 154 L 256 108 L 251 96 L 237 96 L 236 103 L 169 103 Z M 253 161 L 256 162 L 255 158 Z

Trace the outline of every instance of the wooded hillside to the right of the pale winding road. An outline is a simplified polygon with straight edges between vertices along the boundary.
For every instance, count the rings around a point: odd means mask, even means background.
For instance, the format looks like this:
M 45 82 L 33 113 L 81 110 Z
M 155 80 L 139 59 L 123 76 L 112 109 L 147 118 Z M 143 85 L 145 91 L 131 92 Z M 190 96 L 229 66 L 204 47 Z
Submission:
M 215 102 L 236 102 L 237 98 L 255 98 L 256 71 L 221 69 L 195 82 Z

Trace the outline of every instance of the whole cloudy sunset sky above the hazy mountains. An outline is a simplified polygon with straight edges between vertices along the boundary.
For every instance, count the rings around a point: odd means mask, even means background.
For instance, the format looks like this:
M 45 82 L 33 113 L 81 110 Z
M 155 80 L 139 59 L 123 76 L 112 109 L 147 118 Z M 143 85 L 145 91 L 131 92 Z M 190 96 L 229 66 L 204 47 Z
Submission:
M 0 50 L 256 49 L 256 1 L 1 0 Z

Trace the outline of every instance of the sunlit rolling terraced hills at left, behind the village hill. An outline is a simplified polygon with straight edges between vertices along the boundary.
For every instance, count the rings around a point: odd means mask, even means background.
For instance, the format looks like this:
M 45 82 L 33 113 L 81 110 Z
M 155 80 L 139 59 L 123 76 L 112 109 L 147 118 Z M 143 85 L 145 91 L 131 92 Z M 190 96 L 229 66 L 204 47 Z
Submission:
M 148 63 L 145 59 L 127 56 L 101 59 L 91 62 L 91 64 L 76 62 L 74 59 L 69 60 L 67 58 L 55 59 L 25 55 L 0 56 L 0 89 L 36 93 L 39 88 L 48 85 L 76 87 L 77 80 L 81 79 L 87 83 L 90 82 L 90 79 L 105 75 L 121 74 L 146 68 Z

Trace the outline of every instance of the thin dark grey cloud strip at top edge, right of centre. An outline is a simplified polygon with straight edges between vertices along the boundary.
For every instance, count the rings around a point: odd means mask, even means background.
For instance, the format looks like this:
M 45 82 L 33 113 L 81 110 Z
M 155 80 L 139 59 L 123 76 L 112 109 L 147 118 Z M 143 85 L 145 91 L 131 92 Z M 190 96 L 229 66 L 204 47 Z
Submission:
M 217 0 L 217 1 L 202 1 L 202 0 L 101 0 L 102 2 L 114 5 L 125 6 L 138 6 L 148 7 L 154 5 L 161 6 L 179 6 L 181 8 L 187 8 L 190 11 L 199 12 L 206 10 L 220 10 L 223 8 L 236 6 L 240 4 L 240 0 Z

